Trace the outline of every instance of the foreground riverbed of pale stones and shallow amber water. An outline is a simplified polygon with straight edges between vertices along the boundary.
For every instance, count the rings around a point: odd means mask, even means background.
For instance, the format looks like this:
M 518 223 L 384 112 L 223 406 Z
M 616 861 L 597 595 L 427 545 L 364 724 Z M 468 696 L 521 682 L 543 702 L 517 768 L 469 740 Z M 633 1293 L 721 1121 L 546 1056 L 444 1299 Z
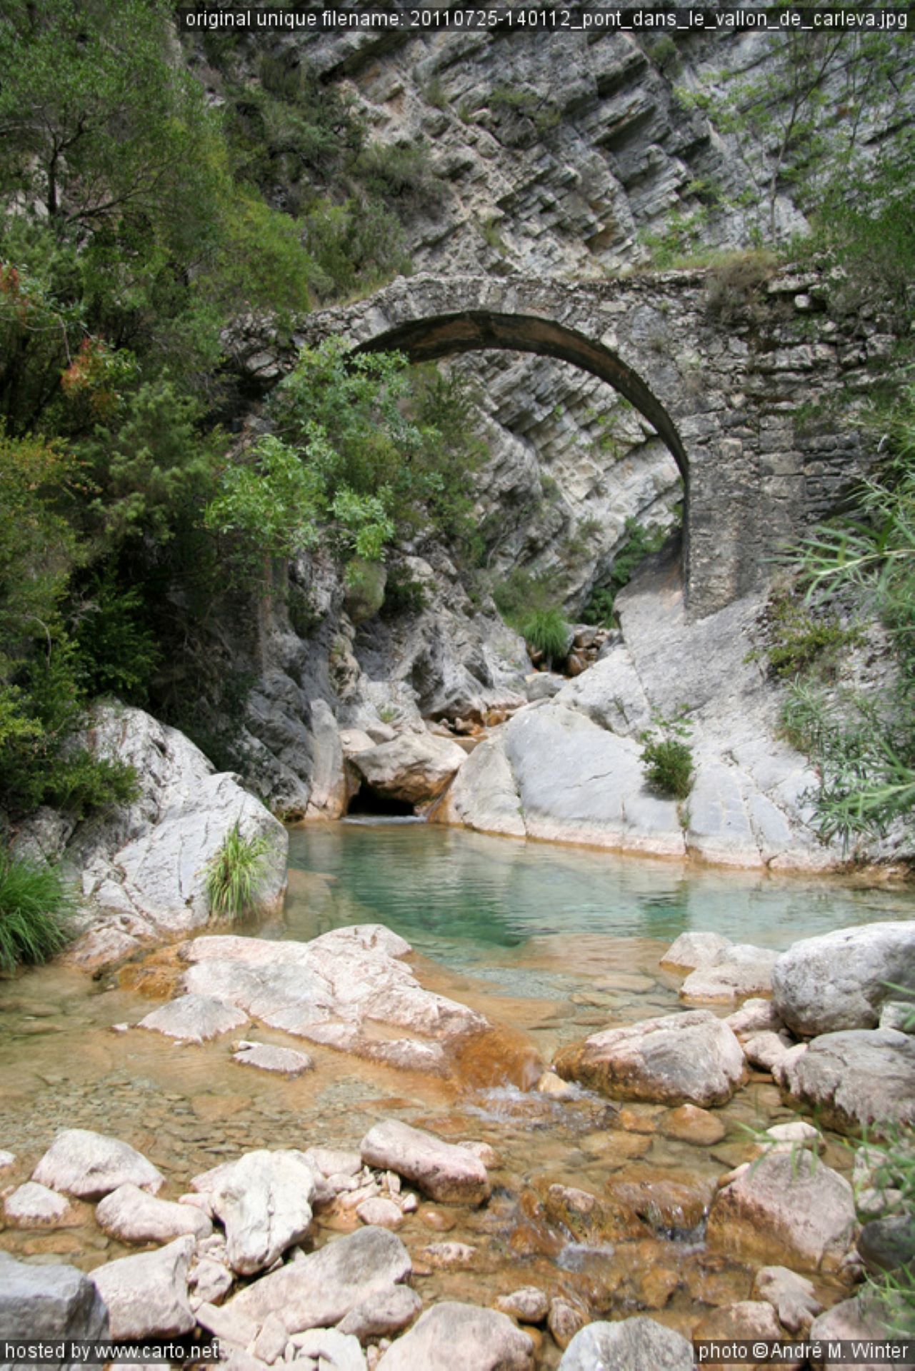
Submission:
M 0 1112 L 4 1326 L 196 1328 L 239 1371 L 689 1367 L 691 1337 L 878 1328 L 893 1197 L 833 1130 L 915 1120 L 886 984 L 915 987 L 915 924 L 609 943 L 616 1012 L 561 1015 L 381 925 L 195 938 L 107 983 L 66 1080 L 29 995 L 85 973 L 26 978 L 44 1091 L 23 1115 L 14 1071 Z

